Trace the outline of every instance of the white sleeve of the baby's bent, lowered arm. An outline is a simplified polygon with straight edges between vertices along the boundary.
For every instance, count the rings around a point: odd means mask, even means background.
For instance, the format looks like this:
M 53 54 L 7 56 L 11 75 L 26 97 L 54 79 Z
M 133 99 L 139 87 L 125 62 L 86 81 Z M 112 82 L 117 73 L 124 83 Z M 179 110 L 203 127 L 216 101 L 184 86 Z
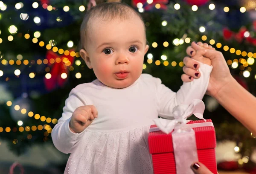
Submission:
M 52 142 L 55 147 L 65 153 L 72 153 L 78 146 L 79 140 L 82 138 L 85 131 L 81 133 L 73 133 L 70 131 L 70 119 L 76 108 L 86 105 L 81 95 L 76 92 L 76 89 L 71 90 L 69 97 L 66 99 L 63 113 L 58 123 L 52 129 Z

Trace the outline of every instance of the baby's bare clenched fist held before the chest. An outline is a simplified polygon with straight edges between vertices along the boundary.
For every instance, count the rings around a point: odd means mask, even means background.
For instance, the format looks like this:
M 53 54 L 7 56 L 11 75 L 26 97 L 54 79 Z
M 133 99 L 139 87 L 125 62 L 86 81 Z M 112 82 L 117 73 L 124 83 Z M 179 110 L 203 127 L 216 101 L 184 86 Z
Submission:
M 70 120 L 70 131 L 73 133 L 84 131 L 97 117 L 98 111 L 93 105 L 85 105 L 76 108 Z

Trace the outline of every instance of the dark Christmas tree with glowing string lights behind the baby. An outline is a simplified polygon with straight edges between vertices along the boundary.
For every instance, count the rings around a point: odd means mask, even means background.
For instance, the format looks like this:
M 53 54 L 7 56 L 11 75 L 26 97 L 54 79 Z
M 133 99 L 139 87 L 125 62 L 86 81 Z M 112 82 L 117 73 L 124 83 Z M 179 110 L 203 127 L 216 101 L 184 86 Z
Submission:
M 145 21 L 150 49 L 143 73 L 160 78 L 177 91 L 182 84 L 186 47 L 192 41 L 202 41 L 221 51 L 236 80 L 256 94 L 253 0 L 123 2 L 140 12 Z M 15 154 L 21 155 L 34 145 L 52 144 L 50 133 L 70 90 L 96 78 L 78 50 L 87 3 L 0 1 L 0 138 Z M 240 154 L 238 164 L 247 166 L 249 161 L 254 166 L 250 160 L 256 145 L 254 135 L 215 99 L 205 96 L 204 102 L 204 117 L 212 119 L 217 140 L 236 142 L 233 150 Z

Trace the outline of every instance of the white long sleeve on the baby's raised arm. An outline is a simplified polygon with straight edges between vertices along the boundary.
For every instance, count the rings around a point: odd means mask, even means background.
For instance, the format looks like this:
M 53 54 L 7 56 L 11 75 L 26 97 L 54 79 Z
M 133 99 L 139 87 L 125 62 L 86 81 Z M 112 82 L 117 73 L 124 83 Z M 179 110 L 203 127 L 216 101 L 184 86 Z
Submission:
M 209 84 L 209 76 L 212 67 L 200 62 L 199 64 L 201 77 L 194 79 L 192 82 L 184 82 L 177 93 L 163 85 L 159 78 L 157 79 L 157 105 L 159 107 L 159 116 L 173 119 L 172 110 L 175 106 L 179 104 L 191 104 L 193 99 L 203 99 Z

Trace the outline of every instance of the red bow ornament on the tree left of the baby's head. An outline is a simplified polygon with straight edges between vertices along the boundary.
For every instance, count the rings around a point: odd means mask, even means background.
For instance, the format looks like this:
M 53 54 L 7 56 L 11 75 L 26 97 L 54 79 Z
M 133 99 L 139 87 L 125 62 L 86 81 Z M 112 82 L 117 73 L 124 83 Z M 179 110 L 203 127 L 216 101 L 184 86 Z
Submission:
M 70 52 L 73 50 L 70 50 Z M 67 75 L 69 74 L 69 71 L 67 70 L 67 67 L 72 65 L 74 62 L 74 57 L 72 57 L 70 54 L 69 55 L 57 55 L 53 51 L 47 51 L 46 54 L 47 60 L 50 62 L 50 59 L 54 59 L 55 63 L 51 64 L 49 63 L 49 66 L 51 67 L 50 74 L 52 75 L 51 78 L 47 79 L 44 78 L 44 85 L 47 90 L 54 90 L 57 87 L 63 87 L 65 82 L 67 81 L 67 78 L 61 78 L 62 73 L 66 73 Z M 57 61 L 56 59 L 60 58 L 60 62 Z M 66 59 L 65 59 L 66 58 Z

